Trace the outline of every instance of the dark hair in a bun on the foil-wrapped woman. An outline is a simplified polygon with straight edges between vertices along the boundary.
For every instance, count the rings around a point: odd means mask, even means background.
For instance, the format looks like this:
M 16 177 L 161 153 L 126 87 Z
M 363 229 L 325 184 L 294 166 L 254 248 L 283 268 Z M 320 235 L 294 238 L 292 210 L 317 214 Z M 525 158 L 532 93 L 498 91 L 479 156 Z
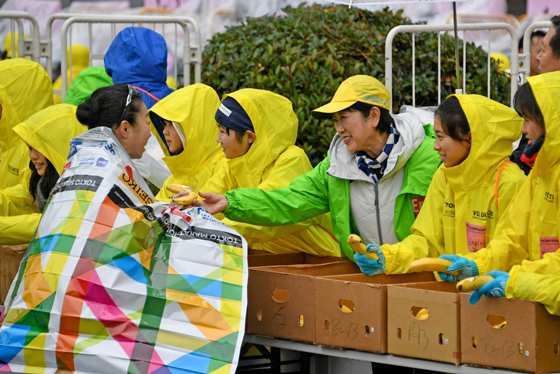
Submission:
M 136 116 L 142 106 L 142 94 L 134 91 L 128 107 L 128 85 L 115 84 L 95 90 L 89 99 L 78 106 L 76 117 L 90 130 L 96 127 L 112 128 L 121 119 L 136 125 Z M 125 111 L 126 107 L 126 111 Z M 124 113 L 124 117 L 123 117 Z

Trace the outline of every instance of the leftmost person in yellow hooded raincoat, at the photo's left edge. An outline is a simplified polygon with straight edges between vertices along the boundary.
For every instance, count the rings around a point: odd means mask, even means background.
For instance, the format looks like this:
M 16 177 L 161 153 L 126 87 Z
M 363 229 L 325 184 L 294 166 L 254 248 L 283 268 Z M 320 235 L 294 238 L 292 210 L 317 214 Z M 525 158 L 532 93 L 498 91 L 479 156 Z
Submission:
M 29 180 L 29 152 L 12 128 L 52 100 L 51 79 L 41 65 L 22 58 L 0 62 L 0 189 Z

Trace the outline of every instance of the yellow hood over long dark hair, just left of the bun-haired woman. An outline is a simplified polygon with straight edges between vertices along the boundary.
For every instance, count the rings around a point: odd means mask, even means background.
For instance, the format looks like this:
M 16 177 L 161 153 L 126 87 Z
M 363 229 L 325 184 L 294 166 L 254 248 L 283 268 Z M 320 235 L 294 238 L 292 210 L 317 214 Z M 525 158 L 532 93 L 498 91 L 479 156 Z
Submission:
M 86 132 L 87 127 L 78 122 L 74 105 L 57 104 L 35 113 L 13 131 L 41 152 L 61 175 L 70 153 L 70 141 Z

